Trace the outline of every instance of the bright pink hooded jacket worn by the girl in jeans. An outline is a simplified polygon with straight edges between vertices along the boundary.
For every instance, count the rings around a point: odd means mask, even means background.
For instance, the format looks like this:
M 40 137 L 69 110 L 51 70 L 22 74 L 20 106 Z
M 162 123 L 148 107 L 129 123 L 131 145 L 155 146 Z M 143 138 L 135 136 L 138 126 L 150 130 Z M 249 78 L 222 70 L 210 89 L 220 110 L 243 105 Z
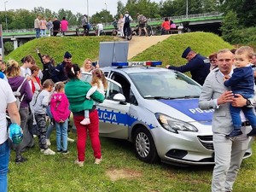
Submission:
M 65 93 L 55 93 L 50 100 L 50 111 L 56 122 L 65 121 L 69 114 L 69 102 Z

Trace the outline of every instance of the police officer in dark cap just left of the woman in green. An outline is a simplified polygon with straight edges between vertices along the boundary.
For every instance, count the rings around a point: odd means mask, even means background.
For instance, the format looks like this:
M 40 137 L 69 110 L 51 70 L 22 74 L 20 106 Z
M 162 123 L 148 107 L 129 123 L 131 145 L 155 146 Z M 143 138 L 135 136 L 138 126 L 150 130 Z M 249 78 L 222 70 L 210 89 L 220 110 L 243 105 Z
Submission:
M 64 60 L 55 67 L 55 71 L 52 73 L 52 80 L 57 83 L 59 81 L 67 81 L 67 73 L 65 67 L 70 65 L 72 61 L 72 55 L 67 51 L 64 55 Z

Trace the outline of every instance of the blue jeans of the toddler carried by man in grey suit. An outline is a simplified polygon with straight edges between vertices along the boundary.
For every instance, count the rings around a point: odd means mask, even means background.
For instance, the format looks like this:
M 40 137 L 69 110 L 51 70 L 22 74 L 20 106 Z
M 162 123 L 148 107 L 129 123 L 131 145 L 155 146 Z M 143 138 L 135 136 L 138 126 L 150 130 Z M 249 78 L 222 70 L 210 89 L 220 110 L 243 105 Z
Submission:
M 246 99 L 253 97 L 252 94 L 248 94 L 248 93 L 236 93 L 236 94 L 241 94 L 241 96 L 243 96 Z M 230 105 L 230 114 L 232 117 L 234 130 L 236 131 L 241 130 L 241 116 L 240 116 L 241 110 L 244 113 L 245 117 L 249 120 L 252 128 L 256 129 L 256 115 L 254 113 L 254 108 L 247 108 L 247 107 L 236 108 Z

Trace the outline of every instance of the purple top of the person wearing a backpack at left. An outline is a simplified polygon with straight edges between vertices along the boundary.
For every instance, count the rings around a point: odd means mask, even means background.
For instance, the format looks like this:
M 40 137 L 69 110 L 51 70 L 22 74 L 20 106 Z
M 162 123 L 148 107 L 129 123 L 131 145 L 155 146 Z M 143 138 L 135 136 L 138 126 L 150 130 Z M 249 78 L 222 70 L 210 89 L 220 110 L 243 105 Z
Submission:
M 14 78 L 9 78 L 8 82 L 9 85 L 11 86 L 13 91 L 18 90 L 20 84 L 22 84 L 23 80 L 25 78 L 21 76 L 16 76 Z M 30 85 L 28 81 L 26 80 L 24 84 L 22 84 L 21 89 L 20 89 L 20 98 L 24 95 L 24 98 L 22 102 L 20 103 L 20 108 L 29 108 L 29 102 L 32 101 L 32 90 L 30 88 Z

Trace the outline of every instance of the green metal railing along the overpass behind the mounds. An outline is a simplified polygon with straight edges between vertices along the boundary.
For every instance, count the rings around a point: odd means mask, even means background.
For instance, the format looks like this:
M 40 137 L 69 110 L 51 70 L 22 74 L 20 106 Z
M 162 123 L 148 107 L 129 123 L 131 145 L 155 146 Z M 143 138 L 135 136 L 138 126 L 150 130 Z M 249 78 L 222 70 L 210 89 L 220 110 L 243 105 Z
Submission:
M 223 13 L 220 12 L 210 12 L 210 13 L 205 13 L 205 14 L 194 14 L 194 15 L 180 15 L 180 16 L 170 16 L 167 17 L 169 20 L 177 20 L 178 22 L 182 21 L 189 21 L 189 20 L 195 20 L 195 19 L 201 19 L 201 18 L 209 18 L 209 17 L 222 17 Z M 162 22 L 165 18 L 148 18 L 148 23 L 151 22 Z M 132 20 L 131 25 L 137 25 L 137 20 Z M 150 24 L 149 24 L 150 25 Z M 70 30 L 76 30 L 78 26 L 70 26 Z M 113 29 L 112 23 L 105 23 L 106 29 Z M 25 32 L 34 32 L 34 29 L 15 29 L 15 30 L 8 30 L 8 33 L 25 33 Z M 6 32 L 4 32 L 6 33 Z

